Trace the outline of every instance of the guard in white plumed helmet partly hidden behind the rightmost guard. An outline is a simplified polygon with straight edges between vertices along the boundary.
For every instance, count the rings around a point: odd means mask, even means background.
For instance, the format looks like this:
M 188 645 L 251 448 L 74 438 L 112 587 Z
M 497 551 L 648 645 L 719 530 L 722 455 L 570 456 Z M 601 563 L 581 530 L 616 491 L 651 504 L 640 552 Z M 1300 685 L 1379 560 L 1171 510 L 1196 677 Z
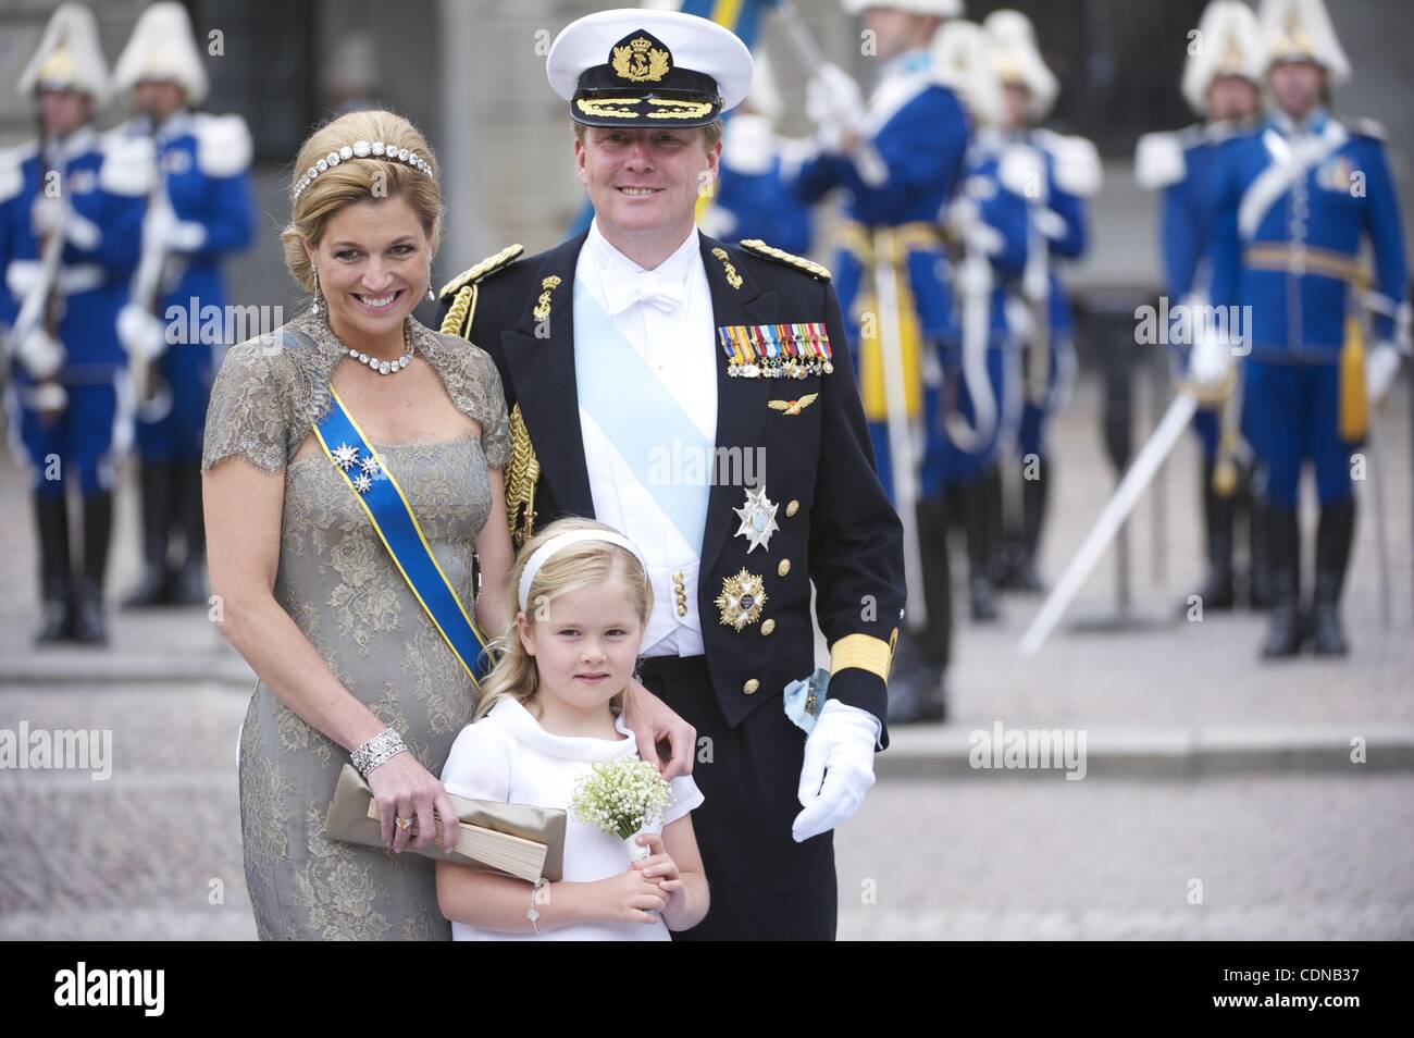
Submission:
M 1261 100 L 1256 61 L 1257 16 L 1239 0 L 1213 0 L 1203 10 L 1184 68 L 1184 98 L 1203 122 L 1185 130 L 1144 134 L 1135 151 L 1140 185 L 1162 192 L 1164 288 L 1171 305 L 1186 307 L 1189 313 L 1200 313 L 1208 304 L 1209 174 L 1219 147 L 1251 130 Z M 1191 345 L 1171 338 L 1179 372 L 1188 369 Z M 1236 588 L 1243 583 L 1233 561 L 1239 513 L 1247 518 L 1247 601 L 1253 608 L 1264 608 L 1270 594 L 1264 522 L 1251 494 L 1251 465 L 1240 434 L 1240 393 L 1229 390 L 1193 417 L 1203 461 L 1200 501 L 1208 546 L 1208 576 L 1198 595 L 1209 610 L 1232 608 Z

